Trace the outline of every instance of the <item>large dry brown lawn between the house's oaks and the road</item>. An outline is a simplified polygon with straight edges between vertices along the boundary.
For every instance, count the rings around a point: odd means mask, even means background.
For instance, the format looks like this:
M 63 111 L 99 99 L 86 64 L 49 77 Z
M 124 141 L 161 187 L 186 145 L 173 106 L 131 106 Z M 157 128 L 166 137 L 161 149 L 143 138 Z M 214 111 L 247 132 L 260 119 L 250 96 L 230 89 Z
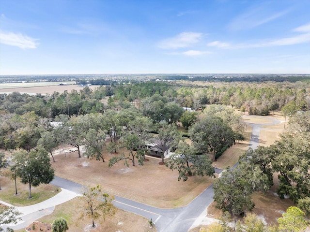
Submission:
M 119 151 L 127 152 L 124 148 Z M 180 207 L 188 204 L 205 188 L 213 178 L 194 176 L 186 182 L 178 181 L 178 172 L 159 165 L 161 159 L 149 158 L 143 166 L 124 166 L 120 161 L 109 168 L 109 159 L 116 155 L 104 152 L 105 162 L 78 158 L 78 154 L 56 155 L 52 165 L 57 176 L 94 186 L 100 184 L 110 194 L 154 205 L 160 208 Z M 130 161 L 130 160 L 129 160 Z

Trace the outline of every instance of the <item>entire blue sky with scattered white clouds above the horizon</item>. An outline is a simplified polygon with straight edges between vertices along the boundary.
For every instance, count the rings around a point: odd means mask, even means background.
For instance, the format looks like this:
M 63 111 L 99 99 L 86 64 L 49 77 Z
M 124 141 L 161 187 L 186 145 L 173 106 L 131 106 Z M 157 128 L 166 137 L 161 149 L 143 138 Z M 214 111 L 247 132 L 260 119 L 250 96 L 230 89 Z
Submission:
M 0 74 L 310 73 L 310 0 L 0 0 Z

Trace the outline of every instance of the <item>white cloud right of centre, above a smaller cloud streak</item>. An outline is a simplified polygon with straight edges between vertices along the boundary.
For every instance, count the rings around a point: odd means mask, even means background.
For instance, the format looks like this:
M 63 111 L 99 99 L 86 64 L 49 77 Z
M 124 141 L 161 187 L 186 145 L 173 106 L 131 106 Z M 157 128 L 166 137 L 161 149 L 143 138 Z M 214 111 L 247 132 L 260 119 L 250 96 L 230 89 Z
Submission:
M 189 47 L 198 43 L 202 39 L 202 33 L 197 32 L 182 32 L 174 37 L 162 40 L 158 47 L 163 49 L 177 49 Z

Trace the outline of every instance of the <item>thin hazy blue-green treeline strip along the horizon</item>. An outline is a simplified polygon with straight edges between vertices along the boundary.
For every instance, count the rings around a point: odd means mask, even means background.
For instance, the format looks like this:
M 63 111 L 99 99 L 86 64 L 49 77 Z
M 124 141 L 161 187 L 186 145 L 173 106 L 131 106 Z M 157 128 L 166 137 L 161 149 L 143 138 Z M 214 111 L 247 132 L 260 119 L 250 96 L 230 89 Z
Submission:
M 137 83 L 156 80 L 163 81 L 206 81 L 206 82 L 297 82 L 310 81 L 310 75 L 307 74 L 115 74 L 115 75 L 2 75 L 0 83 L 18 83 L 18 82 L 63 82 L 76 81 L 77 84 L 92 84 L 94 86 L 107 86 L 116 83 Z

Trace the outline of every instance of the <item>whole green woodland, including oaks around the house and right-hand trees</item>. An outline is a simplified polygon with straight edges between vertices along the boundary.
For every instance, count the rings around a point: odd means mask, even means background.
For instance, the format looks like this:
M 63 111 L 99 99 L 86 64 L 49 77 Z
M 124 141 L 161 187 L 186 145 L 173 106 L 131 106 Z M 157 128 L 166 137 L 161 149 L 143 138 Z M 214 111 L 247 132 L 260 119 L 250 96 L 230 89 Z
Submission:
M 309 81 L 148 81 L 114 83 L 95 90 L 84 87 L 51 95 L 13 92 L 0 94 L 0 148 L 31 151 L 39 147 L 52 155 L 55 147 L 67 144 L 76 147 L 80 157 L 80 147 L 84 146 L 84 156 L 104 162 L 102 149 L 112 152 L 122 145 L 128 153 L 110 159 L 109 166 L 120 161 L 136 165 L 136 159 L 143 165 L 149 152 L 146 141 L 157 134 L 160 147 L 169 145 L 176 154 L 183 154 L 166 165 L 178 170 L 179 180 L 186 181 L 190 175 L 214 176 L 212 161 L 244 138 L 241 115 L 246 111 L 266 116 L 281 110 L 291 122 L 281 139 L 275 145 L 248 150 L 236 171 L 227 170 L 227 178 L 244 180 L 239 187 L 231 188 L 247 187 L 244 191 L 249 199 L 231 199 L 229 204 L 227 199 L 222 201 L 220 196 L 229 186 L 221 182 L 225 181 L 224 175 L 215 181 L 215 201 L 223 211 L 243 215 L 254 207 L 251 193 L 268 190 L 273 185 L 272 175 L 277 172 L 279 197 L 289 196 L 310 214 L 309 109 Z M 188 129 L 187 133 L 177 131 L 179 122 Z M 191 145 L 185 142 L 185 136 Z M 164 163 L 164 155 L 160 157 Z M 246 180 L 250 183 L 244 184 L 248 183 Z M 249 188 L 250 184 L 255 188 Z

